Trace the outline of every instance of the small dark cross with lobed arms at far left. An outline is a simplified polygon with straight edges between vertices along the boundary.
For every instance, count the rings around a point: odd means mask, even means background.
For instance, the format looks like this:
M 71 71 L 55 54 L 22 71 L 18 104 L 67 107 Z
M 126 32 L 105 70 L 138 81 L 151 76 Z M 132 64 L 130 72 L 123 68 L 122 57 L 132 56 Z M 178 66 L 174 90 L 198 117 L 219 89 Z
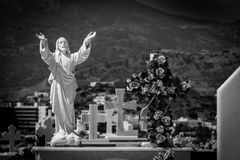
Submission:
M 8 133 L 3 133 L 3 138 L 9 140 L 9 152 L 13 152 L 15 149 L 15 141 L 20 140 L 21 133 L 19 131 L 16 131 L 16 127 L 14 125 L 10 125 L 8 127 Z

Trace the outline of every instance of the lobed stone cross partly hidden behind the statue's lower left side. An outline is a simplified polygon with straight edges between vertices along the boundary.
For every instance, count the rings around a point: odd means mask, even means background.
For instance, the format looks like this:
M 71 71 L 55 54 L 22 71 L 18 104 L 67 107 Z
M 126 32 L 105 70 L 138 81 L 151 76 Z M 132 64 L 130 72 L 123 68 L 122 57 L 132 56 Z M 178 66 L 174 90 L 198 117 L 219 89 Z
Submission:
M 54 119 L 50 115 L 48 115 L 47 119 L 43 120 L 43 122 L 36 124 L 36 134 L 39 137 L 45 136 L 45 145 L 46 142 L 50 142 L 55 132 L 55 128 L 53 127 Z

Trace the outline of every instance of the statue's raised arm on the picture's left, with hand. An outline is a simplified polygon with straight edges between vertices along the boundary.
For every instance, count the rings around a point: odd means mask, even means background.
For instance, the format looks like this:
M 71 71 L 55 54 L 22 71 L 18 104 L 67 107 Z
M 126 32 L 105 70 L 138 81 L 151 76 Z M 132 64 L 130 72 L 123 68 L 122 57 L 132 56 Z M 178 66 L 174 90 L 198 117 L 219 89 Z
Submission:
M 52 57 L 52 53 L 50 52 L 50 50 L 48 48 L 47 38 L 42 33 L 36 34 L 36 36 L 40 40 L 39 50 L 40 50 L 41 57 L 42 57 L 43 61 L 47 65 L 49 65 L 51 63 L 53 57 Z

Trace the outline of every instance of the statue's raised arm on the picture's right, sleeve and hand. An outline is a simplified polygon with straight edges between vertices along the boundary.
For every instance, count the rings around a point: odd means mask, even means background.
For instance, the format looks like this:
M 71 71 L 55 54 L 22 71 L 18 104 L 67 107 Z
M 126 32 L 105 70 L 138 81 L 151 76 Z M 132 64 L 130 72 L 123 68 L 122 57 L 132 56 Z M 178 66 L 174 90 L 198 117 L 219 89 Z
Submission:
M 83 63 L 89 57 L 91 51 L 91 40 L 95 38 L 95 36 L 96 32 L 90 32 L 84 39 L 79 50 L 71 55 L 73 57 L 75 66 Z

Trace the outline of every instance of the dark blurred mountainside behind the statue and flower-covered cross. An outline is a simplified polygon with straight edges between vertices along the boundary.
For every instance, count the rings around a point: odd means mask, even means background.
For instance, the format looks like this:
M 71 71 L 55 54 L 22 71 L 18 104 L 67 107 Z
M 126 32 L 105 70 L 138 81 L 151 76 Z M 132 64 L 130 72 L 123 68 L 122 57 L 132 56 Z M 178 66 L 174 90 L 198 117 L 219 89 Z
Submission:
M 239 22 L 173 16 L 131 0 L 36 2 L 16 4 L 14 13 L 1 8 L 2 99 L 49 88 L 38 32 L 46 35 L 52 51 L 60 36 L 67 38 L 71 51 L 77 51 L 90 31 L 97 32 L 89 59 L 76 68 L 79 86 L 90 81 L 124 82 L 145 70 L 152 50 L 162 49 L 173 73 L 192 81 L 194 93 L 214 96 L 240 64 Z

